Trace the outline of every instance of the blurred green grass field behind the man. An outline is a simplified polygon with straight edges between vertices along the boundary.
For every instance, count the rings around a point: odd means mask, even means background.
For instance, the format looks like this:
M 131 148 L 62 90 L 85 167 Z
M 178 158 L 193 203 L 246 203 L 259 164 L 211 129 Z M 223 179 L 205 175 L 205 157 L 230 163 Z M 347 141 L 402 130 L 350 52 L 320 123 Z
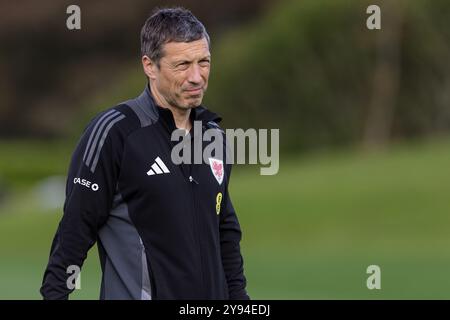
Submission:
M 0 204 L 0 299 L 39 299 L 61 213 L 29 186 L 64 174 L 70 148 L 0 145 L 13 190 Z M 284 156 L 276 176 L 237 167 L 231 194 L 254 299 L 450 299 L 449 140 Z M 93 248 L 73 299 L 98 298 L 97 260 Z M 381 290 L 366 287 L 372 264 Z

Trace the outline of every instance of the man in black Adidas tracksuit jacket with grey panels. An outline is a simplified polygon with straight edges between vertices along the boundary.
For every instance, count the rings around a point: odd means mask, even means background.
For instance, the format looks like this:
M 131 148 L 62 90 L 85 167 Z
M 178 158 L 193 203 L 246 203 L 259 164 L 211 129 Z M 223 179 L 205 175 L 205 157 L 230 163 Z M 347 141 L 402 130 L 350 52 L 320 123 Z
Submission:
M 199 121 L 220 130 L 220 118 L 200 106 L 209 45 L 204 26 L 185 9 L 161 9 L 145 22 L 149 85 L 95 117 L 81 137 L 44 274 L 45 299 L 68 298 L 68 270 L 81 267 L 96 240 L 101 299 L 249 298 L 228 193 L 231 166 L 171 160 L 177 128 L 194 136 Z

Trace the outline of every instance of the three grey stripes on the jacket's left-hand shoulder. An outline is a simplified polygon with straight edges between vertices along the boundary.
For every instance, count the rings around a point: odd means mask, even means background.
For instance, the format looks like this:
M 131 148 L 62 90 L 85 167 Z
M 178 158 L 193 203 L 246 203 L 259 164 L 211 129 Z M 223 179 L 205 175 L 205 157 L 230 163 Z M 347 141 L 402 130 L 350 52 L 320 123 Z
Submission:
M 125 115 L 112 109 L 105 112 L 95 124 L 83 155 L 83 162 L 90 168 L 92 173 L 94 173 L 97 167 L 100 152 L 102 151 L 109 130 L 111 130 L 116 122 L 119 122 L 123 118 L 125 118 Z

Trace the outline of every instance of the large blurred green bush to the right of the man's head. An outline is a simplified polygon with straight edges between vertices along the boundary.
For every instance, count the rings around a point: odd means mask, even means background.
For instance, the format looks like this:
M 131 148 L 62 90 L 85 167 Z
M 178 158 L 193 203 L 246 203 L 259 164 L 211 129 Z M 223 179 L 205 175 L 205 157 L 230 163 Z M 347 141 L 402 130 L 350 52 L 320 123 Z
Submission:
M 384 145 L 448 132 L 450 2 L 286 1 L 219 43 L 207 104 L 284 149 Z

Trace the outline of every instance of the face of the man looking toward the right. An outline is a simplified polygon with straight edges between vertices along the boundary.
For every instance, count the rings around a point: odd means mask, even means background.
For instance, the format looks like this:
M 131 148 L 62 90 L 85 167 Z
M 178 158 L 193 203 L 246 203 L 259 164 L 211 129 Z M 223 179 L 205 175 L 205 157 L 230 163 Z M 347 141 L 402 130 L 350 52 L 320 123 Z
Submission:
M 201 104 L 208 87 L 211 54 L 205 38 L 192 42 L 169 42 L 163 46 L 159 67 L 152 69 L 158 94 L 181 109 Z

